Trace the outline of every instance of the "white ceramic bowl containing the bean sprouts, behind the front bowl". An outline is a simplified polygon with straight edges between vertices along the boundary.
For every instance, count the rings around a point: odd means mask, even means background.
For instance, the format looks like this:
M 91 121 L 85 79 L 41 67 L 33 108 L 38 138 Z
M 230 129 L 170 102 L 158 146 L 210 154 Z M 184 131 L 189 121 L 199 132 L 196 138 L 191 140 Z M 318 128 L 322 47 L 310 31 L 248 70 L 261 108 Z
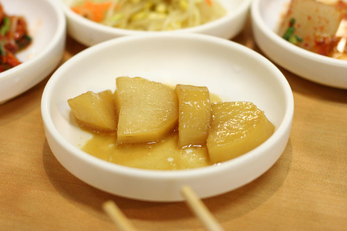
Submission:
M 71 0 L 61 0 L 65 15 L 67 18 L 67 32 L 78 42 L 92 46 L 106 40 L 126 36 L 140 35 L 149 33 L 200 33 L 213 35 L 221 38 L 230 39 L 237 35 L 243 28 L 250 5 L 250 0 L 218 0 L 227 10 L 227 15 L 216 21 L 193 27 L 188 29 L 177 30 L 173 32 L 146 32 L 124 30 L 119 28 L 108 27 L 91 20 L 85 19 L 74 13 L 68 6 L 71 5 Z

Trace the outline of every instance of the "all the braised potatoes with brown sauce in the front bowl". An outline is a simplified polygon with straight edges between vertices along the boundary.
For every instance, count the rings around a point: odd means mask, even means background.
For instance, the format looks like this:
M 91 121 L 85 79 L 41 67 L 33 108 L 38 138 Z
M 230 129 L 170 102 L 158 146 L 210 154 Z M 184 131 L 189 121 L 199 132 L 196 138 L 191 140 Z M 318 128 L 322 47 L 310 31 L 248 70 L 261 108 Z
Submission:
M 68 99 L 77 124 L 93 133 L 82 150 L 110 162 L 162 170 L 203 167 L 240 156 L 274 132 L 253 103 L 211 103 L 207 87 L 172 89 L 140 77 L 118 77 L 116 85 L 114 93 L 88 91 Z

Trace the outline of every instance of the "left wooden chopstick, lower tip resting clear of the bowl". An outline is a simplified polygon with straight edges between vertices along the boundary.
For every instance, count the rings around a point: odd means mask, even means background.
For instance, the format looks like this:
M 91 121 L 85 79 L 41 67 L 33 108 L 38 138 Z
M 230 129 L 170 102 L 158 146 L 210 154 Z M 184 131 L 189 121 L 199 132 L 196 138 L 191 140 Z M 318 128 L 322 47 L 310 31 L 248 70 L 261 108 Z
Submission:
M 103 208 L 120 231 L 136 231 L 136 228 L 130 223 L 115 202 L 112 200 L 106 201 L 103 203 Z

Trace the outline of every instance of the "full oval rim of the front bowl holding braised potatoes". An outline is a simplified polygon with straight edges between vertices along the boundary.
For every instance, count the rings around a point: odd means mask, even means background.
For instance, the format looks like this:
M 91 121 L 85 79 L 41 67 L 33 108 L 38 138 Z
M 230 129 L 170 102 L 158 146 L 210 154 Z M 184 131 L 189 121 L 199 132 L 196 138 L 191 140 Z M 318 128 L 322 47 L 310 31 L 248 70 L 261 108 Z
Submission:
M 212 165 L 212 166 L 207 166 L 202 168 L 186 169 L 186 170 L 147 170 L 147 169 L 137 169 L 133 167 L 122 166 L 122 165 L 118 165 L 118 164 L 111 163 L 111 162 L 99 159 L 97 157 L 94 157 L 88 153 L 83 152 L 82 150 L 78 149 L 77 147 L 69 143 L 58 132 L 51 118 L 50 99 L 52 96 L 52 89 L 54 89 L 56 83 L 59 82 L 59 76 L 61 76 L 62 73 L 68 70 L 70 66 L 73 66 L 75 62 L 80 61 L 81 59 L 83 59 L 83 57 L 88 57 L 92 55 L 94 52 L 98 52 L 99 49 L 104 49 L 110 46 L 118 46 L 119 44 L 127 43 L 128 41 L 134 41 L 134 40 L 141 41 L 146 39 L 147 40 L 153 40 L 153 39 L 162 40 L 165 38 L 180 39 L 180 40 L 182 39 L 200 40 L 205 43 L 215 43 L 219 45 L 224 45 L 231 49 L 240 50 L 246 53 L 246 55 L 253 57 L 254 59 L 258 60 L 259 62 L 267 66 L 267 69 L 270 72 L 274 73 L 275 78 L 280 83 L 280 86 L 283 89 L 283 94 L 286 101 L 286 107 L 285 107 L 285 113 L 284 113 L 283 119 L 280 125 L 278 126 L 278 128 L 276 129 L 276 131 L 274 132 L 274 134 L 266 142 L 264 142 L 262 145 L 258 146 L 257 148 L 237 158 L 226 161 L 223 164 L 220 164 L 218 166 Z M 77 55 L 71 57 L 70 60 L 65 62 L 56 70 L 56 72 L 52 75 L 52 77 L 47 82 L 45 89 L 43 91 L 42 100 L 41 100 L 41 114 L 42 114 L 43 124 L 46 127 L 45 129 L 46 134 L 49 133 L 53 137 L 55 142 L 57 142 L 61 147 L 63 147 L 67 152 L 69 152 L 69 155 L 74 155 L 80 161 L 88 162 L 90 165 L 93 165 L 94 167 L 97 167 L 98 169 L 107 170 L 113 174 L 128 175 L 128 176 L 133 176 L 140 179 L 152 178 L 156 180 L 185 179 L 187 177 L 198 177 L 198 176 L 201 177 L 204 175 L 210 175 L 220 171 L 225 171 L 226 169 L 229 169 L 232 166 L 242 165 L 242 163 L 250 161 L 254 156 L 261 155 L 261 153 L 271 149 L 273 144 L 276 144 L 278 143 L 279 140 L 281 140 L 281 138 L 291 128 L 293 113 L 294 113 L 294 98 L 293 98 L 293 93 L 290 88 L 290 85 L 287 79 L 282 74 L 282 72 L 272 62 L 270 62 L 264 56 L 236 42 L 232 42 L 226 39 L 221 39 L 221 38 L 217 38 L 217 37 L 213 37 L 209 35 L 201 35 L 201 34 L 175 34 L 175 35 L 148 34 L 148 35 L 126 36 L 126 37 L 108 40 L 106 42 L 102 42 L 92 47 L 89 47 L 81 51 Z

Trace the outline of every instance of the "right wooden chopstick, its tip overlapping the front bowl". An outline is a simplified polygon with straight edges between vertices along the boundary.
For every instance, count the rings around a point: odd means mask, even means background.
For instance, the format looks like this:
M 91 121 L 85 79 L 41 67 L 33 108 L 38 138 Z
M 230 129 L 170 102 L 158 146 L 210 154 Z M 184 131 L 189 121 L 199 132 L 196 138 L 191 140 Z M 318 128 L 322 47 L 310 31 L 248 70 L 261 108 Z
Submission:
M 213 217 L 206 205 L 201 201 L 198 195 L 189 186 L 183 186 L 181 193 L 185 197 L 187 204 L 195 213 L 195 215 L 203 223 L 208 231 L 224 231 L 222 226 Z

